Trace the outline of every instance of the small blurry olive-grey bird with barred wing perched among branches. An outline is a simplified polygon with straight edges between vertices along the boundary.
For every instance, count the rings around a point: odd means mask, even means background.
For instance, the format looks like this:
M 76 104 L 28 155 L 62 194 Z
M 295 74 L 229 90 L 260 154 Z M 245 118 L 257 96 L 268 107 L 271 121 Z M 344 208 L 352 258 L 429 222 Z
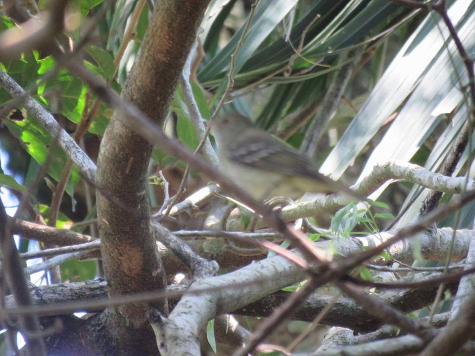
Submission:
M 306 156 L 255 127 L 245 116 L 227 114 L 210 125 L 223 172 L 258 200 L 297 199 L 306 192 L 342 192 L 364 199 L 319 173 Z

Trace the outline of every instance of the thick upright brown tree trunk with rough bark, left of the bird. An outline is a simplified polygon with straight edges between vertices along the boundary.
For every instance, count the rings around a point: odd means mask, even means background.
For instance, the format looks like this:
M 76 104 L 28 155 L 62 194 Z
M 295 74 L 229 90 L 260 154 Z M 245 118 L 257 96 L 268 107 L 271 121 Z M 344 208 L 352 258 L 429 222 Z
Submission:
M 152 14 L 122 96 L 156 123 L 166 116 L 207 2 L 160 1 Z M 165 287 L 149 226 L 146 172 L 151 150 L 127 126 L 127 117 L 115 111 L 101 141 L 96 178 L 101 253 L 110 296 Z M 166 312 L 166 302 L 154 307 Z M 116 350 L 108 353 L 156 353 L 146 309 L 136 304 L 104 313 L 107 333 L 117 342 Z

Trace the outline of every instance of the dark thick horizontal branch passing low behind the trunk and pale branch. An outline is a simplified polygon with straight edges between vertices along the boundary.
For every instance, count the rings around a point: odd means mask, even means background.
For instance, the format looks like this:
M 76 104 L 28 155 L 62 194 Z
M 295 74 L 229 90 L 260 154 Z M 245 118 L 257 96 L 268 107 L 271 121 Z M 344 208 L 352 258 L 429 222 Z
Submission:
M 417 273 L 412 276 L 410 280 L 420 281 L 432 278 L 436 273 Z M 270 276 L 274 278 L 274 276 Z M 406 279 L 404 279 L 406 280 Z M 451 283 L 447 287 L 454 291 L 457 283 Z M 32 287 L 32 298 L 35 305 L 54 305 L 56 303 L 66 302 L 81 302 L 94 301 L 107 297 L 106 281 L 104 280 L 90 280 L 85 282 L 58 284 Z M 176 288 L 180 286 L 171 285 L 167 287 L 167 291 L 173 293 Z M 185 289 L 185 286 L 181 287 Z M 400 309 L 402 312 L 413 312 L 421 309 L 433 300 L 436 293 L 436 287 L 430 289 L 411 289 L 404 291 L 388 291 L 380 295 L 381 299 L 390 305 Z M 289 297 L 291 292 L 278 291 L 267 295 L 261 299 L 252 302 L 233 313 L 238 315 L 249 315 L 266 317 L 280 306 Z M 314 293 L 310 295 L 301 308 L 295 312 L 293 316 L 296 320 L 312 321 L 327 305 L 331 302 L 332 296 L 322 295 L 321 293 Z M 15 308 L 15 301 L 13 296 L 9 295 L 5 298 L 5 308 Z M 77 309 L 82 309 L 87 312 L 100 312 L 104 309 L 103 306 L 81 307 L 78 305 Z M 61 315 L 69 312 L 62 311 L 60 308 L 42 315 Z M 448 315 L 447 315 L 448 318 Z M 325 314 L 321 320 L 322 324 L 332 326 L 343 326 L 351 328 L 358 333 L 367 333 L 376 330 L 381 326 L 383 320 L 375 318 L 358 306 L 354 301 L 340 297 L 332 304 L 332 309 Z

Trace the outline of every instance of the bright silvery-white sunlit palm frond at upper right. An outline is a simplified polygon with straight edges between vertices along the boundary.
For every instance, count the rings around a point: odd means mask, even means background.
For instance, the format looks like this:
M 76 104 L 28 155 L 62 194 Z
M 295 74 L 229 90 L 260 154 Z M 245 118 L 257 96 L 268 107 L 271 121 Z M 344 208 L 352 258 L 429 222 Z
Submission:
M 454 1 L 448 8 L 448 15 L 453 24 L 458 27 L 458 33 L 466 50 L 473 51 L 475 36 L 472 25 L 475 19 L 475 3 L 469 0 Z M 332 173 L 333 178 L 340 177 L 396 110 L 398 111 L 396 119 L 386 130 L 378 147 L 373 150 L 360 178 L 365 177 L 379 162 L 394 159 L 409 160 L 423 144 L 427 135 L 437 126 L 440 121 L 438 114 L 441 111 L 450 112 L 459 104 L 460 100 L 454 100 L 457 95 L 460 95 L 460 90 L 455 89 L 459 88 L 460 84 L 456 80 L 454 71 L 458 71 L 462 64 L 453 43 L 449 45 L 449 48 L 451 55 L 456 59 L 455 64 L 451 62 L 445 48 L 446 35 L 441 36 L 441 29 L 446 32 L 443 21 L 438 16 L 427 14 L 426 19 L 399 50 L 361 110 L 327 157 L 321 167 L 322 173 Z M 401 76 L 401 73 L 404 75 Z M 394 83 L 398 85 L 394 87 Z M 392 89 L 387 90 L 387 88 Z M 441 108 L 439 104 L 446 96 L 449 96 L 449 93 L 453 95 L 444 103 L 445 109 L 436 110 Z M 400 109 L 408 95 L 410 95 L 409 99 Z M 367 120 L 369 116 L 372 120 Z M 421 120 L 415 121 L 414 117 Z M 397 146 L 394 142 L 397 142 Z M 382 189 L 378 192 L 381 191 Z

